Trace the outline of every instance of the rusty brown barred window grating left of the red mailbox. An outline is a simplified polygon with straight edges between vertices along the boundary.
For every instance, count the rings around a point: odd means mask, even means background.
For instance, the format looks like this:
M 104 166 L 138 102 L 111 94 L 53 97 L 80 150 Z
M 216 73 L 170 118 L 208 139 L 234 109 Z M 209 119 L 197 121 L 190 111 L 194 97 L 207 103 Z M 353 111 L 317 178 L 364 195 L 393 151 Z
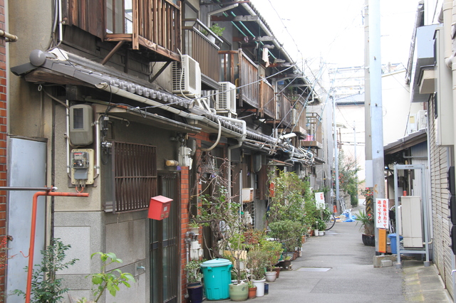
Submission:
M 157 196 L 156 147 L 113 142 L 114 213 L 139 211 Z

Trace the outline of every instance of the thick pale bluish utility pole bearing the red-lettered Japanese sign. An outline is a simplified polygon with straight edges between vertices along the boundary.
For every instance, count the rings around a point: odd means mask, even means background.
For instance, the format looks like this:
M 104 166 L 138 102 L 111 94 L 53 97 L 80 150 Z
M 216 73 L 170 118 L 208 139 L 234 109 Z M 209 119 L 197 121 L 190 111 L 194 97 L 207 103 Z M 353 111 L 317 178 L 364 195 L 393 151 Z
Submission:
M 373 210 L 375 199 L 385 198 L 385 161 L 383 159 L 382 65 L 380 51 L 380 0 L 368 0 L 369 9 L 369 74 L 371 149 L 373 176 Z M 378 228 L 375 228 L 375 252 L 378 252 Z

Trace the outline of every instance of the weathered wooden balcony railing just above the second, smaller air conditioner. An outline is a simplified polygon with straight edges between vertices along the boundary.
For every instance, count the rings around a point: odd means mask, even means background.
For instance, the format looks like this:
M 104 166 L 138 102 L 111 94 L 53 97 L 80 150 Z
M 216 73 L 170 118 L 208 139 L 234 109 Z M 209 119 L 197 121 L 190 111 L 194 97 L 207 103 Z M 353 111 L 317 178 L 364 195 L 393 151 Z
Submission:
M 222 50 L 222 81 L 235 83 L 239 92 L 239 108 L 260 109 L 258 65 L 241 49 Z

